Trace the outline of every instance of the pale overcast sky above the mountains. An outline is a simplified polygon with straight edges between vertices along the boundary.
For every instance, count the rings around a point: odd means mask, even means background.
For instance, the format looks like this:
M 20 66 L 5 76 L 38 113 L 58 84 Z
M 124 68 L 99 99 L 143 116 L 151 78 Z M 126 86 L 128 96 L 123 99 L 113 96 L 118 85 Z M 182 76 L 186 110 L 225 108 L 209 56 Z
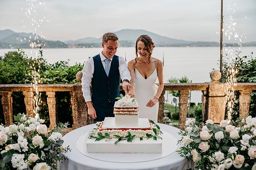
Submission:
M 191 41 L 220 39 L 220 0 L 33 0 L 34 8 L 29 1 L 0 0 L 0 30 L 42 31 L 46 39 L 61 41 L 101 37 L 126 28 Z M 235 11 L 233 34 L 244 33 L 243 42 L 256 41 L 256 0 L 223 1 L 224 29 Z M 32 26 L 33 18 L 43 21 Z M 35 25 L 40 26 L 36 31 Z

